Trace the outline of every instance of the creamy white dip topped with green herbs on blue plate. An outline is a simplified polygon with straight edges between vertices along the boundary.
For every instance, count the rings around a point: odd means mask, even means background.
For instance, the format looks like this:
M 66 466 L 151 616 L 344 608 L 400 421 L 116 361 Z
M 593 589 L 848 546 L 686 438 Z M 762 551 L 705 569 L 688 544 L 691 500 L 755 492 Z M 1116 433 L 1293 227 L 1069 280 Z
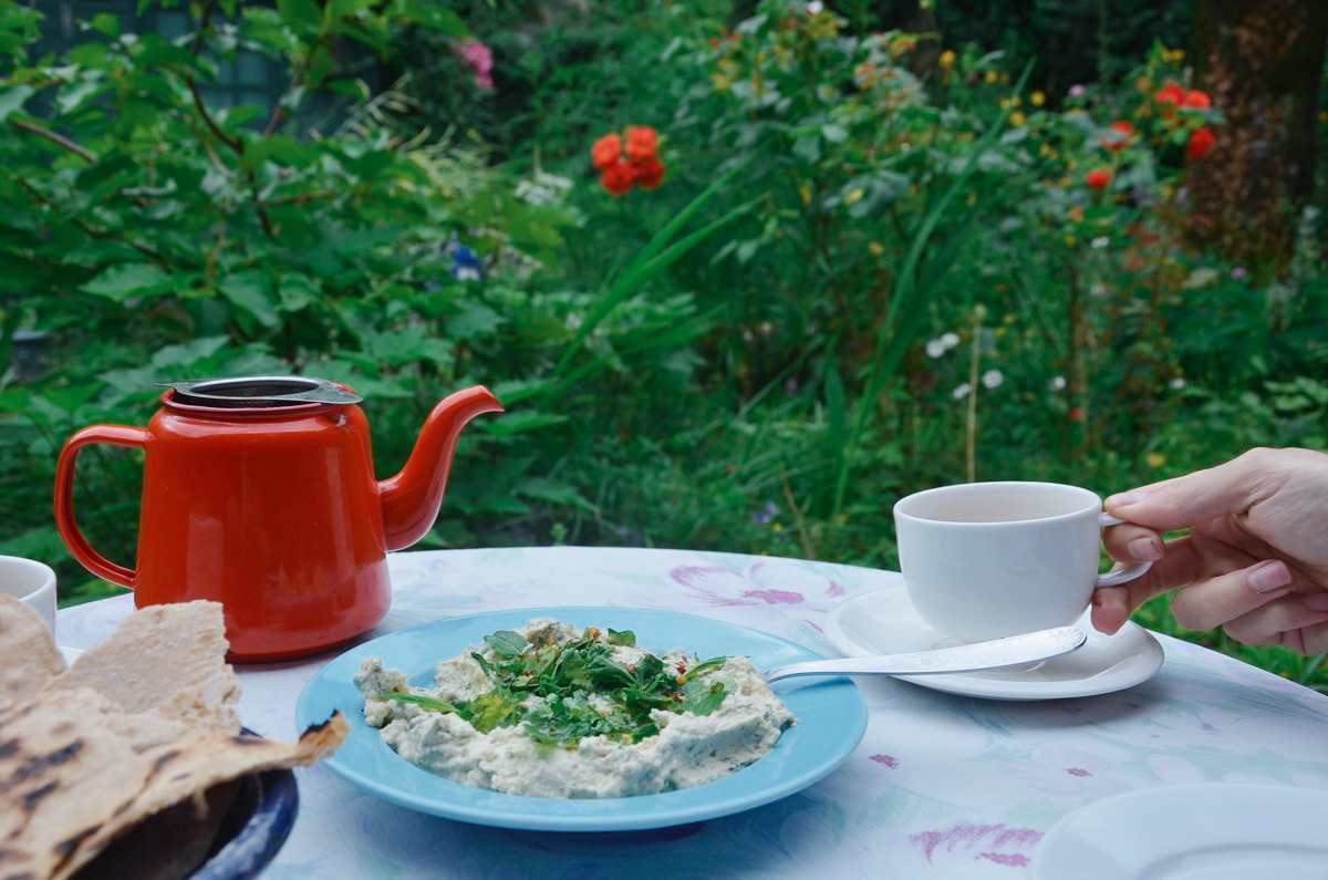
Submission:
M 453 782 L 537 798 L 688 788 L 746 767 L 795 723 L 745 657 L 655 655 L 551 618 L 438 663 L 436 687 L 369 657 L 364 718 L 398 755 Z

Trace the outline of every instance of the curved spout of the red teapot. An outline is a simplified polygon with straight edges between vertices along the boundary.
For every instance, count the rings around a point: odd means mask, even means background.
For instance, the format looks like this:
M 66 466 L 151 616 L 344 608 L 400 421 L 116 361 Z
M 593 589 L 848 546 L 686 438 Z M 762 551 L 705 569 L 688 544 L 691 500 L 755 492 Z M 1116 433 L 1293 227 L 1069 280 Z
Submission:
M 401 472 L 378 481 L 388 550 L 405 549 L 433 528 L 457 437 L 466 423 L 485 412 L 502 412 L 502 404 L 483 385 L 448 396 L 429 413 Z

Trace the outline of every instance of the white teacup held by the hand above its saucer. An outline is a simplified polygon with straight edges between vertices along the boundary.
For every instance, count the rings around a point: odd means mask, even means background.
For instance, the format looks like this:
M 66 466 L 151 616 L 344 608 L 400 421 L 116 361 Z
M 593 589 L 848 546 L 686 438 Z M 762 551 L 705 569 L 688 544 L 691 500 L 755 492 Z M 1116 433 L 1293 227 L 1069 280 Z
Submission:
M 1120 522 L 1094 493 L 1058 483 L 967 483 L 895 504 L 908 598 L 968 642 L 1073 623 L 1094 589 L 1143 574 L 1150 562 L 1098 574 L 1102 528 Z

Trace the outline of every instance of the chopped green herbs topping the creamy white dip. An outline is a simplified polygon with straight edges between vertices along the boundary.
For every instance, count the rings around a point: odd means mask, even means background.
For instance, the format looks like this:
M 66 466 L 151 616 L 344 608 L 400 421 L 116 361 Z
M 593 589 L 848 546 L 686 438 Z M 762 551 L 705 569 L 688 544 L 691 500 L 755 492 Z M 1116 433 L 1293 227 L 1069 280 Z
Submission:
M 632 666 L 614 659 L 614 647 L 635 647 L 631 630 L 602 633 L 587 627 L 576 639 L 531 643 L 521 633 L 499 630 L 485 637 L 493 659 L 471 653 L 497 685 L 469 701 L 453 703 L 417 694 L 380 694 L 424 710 L 459 715 L 481 731 L 522 724 L 539 743 L 575 747 L 586 736 L 639 743 L 660 732 L 653 710 L 709 715 L 728 697 L 720 679 L 705 679 L 726 657 L 669 663 L 644 653 Z M 543 699 L 525 706 L 531 695 Z

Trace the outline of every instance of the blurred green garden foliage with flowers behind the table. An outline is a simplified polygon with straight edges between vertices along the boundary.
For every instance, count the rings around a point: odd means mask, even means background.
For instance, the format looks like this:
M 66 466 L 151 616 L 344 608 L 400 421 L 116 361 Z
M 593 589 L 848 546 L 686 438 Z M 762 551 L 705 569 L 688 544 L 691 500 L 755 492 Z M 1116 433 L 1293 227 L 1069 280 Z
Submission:
M 381 475 L 490 385 L 426 548 L 894 568 L 915 489 L 1328 448 L 1325 33 L 1311 0 L 0 0 L 0 552 L 104 596 L 60 447 L 215 375 L 355 385 Z M 612 194 L 591 148 L 633 126 L 664 177 Z M 131 564 L 141 461 L 84 457 Z

